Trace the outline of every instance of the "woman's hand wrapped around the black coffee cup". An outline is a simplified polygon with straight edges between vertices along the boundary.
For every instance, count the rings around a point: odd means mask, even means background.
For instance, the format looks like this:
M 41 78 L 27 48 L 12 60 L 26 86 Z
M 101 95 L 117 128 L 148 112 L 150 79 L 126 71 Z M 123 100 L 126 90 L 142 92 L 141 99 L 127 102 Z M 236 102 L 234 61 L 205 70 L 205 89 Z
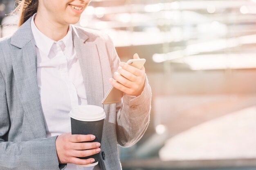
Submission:
M 94 135 L 72 135 L 71 133 L 64 133 L 56 139 L 56 151 L 59 163 L 74 163 L 77 165 L 87 165 L 93 163 L 95 160 L 79 159 L 77 157 L 87 157 L 97 154 L 101 151 L 99 142 L 85 142 L 95 139 Z M 85 142 L 85 143 L 79 143 Z

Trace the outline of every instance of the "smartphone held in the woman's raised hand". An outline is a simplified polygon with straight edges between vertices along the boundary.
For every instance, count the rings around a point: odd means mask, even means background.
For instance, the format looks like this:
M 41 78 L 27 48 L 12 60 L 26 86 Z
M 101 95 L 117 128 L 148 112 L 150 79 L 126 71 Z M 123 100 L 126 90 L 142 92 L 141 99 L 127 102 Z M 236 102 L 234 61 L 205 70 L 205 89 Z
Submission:
M 126 63 L 129 65 L 132 65 L 135 68 L 141 69 L 146 62 L 146 59 L 130 59 Z M 108 90 L 108 93 L 103 98 L 101 103 L 103 105 L 105 104 L 111 104 L 111 103 L 117 103 L 121 100 L 123 97 L 124 92 L 120 91 L 119 89 L 116 89 L 115 87 L 110 87 Z

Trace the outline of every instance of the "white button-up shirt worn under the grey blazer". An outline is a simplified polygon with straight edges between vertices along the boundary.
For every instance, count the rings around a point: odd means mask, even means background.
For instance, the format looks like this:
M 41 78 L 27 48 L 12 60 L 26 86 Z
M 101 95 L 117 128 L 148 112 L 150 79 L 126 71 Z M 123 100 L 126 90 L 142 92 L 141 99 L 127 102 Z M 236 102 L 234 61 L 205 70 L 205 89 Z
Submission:
M 68 113 L 76 105 L 87 105 L 87 99 L 71 25 L 67 35 L 56 42 L 38 30 L 34 23 L 35 15 L 31 29 L 36 45 L 38 89 L 47 137 L 51 137 L 71 132 Z M 93 168 L 68 163 L 66 170 Z

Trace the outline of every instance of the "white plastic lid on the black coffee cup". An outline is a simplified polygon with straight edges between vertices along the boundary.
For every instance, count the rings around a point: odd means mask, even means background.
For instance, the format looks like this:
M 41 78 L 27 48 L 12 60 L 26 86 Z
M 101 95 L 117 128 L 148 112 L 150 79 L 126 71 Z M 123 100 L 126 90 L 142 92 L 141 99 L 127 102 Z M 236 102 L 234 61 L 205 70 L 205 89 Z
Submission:
M 95 105 L 79 105 L 74 107 L 68 115 L 73 119 L 87 122 L 106 118 L 103 108 Z

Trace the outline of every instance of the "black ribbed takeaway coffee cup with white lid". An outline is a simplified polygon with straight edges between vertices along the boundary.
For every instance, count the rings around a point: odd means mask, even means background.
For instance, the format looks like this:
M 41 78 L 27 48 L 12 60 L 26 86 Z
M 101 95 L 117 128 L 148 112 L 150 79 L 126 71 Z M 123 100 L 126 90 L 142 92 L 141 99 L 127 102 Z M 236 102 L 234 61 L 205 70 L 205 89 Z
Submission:
M 106 118 L 103 108 L 94 105 L 79 105 L 70 111 L 69 116 L 72 135 L 94 135 L 95 139 L 89 142 L 101 143 L 104 118 Z M 95 159 L 91 164 L 79 166 L 95 166 L 99 162 L 99 156 L 100 153 L 88 157 L 79 157 L 80 159 Z

